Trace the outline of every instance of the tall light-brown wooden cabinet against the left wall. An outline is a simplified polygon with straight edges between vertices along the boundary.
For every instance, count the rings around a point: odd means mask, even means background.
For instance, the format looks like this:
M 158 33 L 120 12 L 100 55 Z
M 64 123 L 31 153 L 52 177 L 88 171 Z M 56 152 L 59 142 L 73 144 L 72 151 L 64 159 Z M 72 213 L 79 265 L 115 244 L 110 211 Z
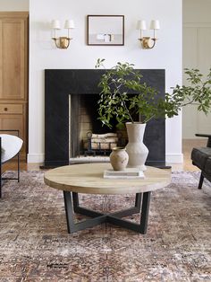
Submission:
M 28 149 L 29 13 L 0 12 L 0 130 L 20 130 Z

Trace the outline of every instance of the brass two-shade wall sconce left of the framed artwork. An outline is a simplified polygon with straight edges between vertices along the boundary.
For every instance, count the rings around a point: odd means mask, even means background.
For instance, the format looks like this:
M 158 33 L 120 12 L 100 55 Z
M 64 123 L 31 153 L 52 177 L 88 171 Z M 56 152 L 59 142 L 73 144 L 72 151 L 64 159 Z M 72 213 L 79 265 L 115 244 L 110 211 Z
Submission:
M 68 30 L 67 36 L 58 37 L 58 38 L 56 37 L 56 30 L 61 30 L 60 22 L 58 20 L 53 20 L 51 22 L 51 28 L 55 31 L 54 37 L 52 38 L 52 40 L 55 41 L 55 46 L 57 48 L 63 48 L 63 49 L 68 48 L 70 45 L 70 41 L 72 40 L 70 38 L 70 30 L 75 28 L 74 22 L 72 20 L 65 21 L 64 29 Z

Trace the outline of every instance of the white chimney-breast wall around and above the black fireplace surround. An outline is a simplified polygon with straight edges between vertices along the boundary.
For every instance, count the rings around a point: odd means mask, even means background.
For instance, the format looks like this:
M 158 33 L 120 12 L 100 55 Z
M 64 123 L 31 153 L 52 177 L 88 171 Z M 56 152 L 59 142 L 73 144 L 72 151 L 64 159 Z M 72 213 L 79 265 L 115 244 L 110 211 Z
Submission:
M 88 14 L 124 14 L 125 45 L 119 47 L 87 46 Z M 73 40 L 68 49 L 57 49 L 51 40 L 52 19 L 73 19 Z M 156 48 L 139 47 L 139 19 L 160 20 Z M 64 30 L 63 30 L 64 32 Z M 146 31 L 148 35 L 150 31 Z M 44 159 L 44 69 L 94 68 L 97 58 L 106 59 L 106 67 L 128 61 L 137 68 L 164 68 L 166 92 L 181 84 L 181 0 L 30 0 L 30 124 L 28 161 Z M 56 113 L 55 113 L 56 114 Z M 167 161 L 181 162 L 181 117 L 166 121 Z

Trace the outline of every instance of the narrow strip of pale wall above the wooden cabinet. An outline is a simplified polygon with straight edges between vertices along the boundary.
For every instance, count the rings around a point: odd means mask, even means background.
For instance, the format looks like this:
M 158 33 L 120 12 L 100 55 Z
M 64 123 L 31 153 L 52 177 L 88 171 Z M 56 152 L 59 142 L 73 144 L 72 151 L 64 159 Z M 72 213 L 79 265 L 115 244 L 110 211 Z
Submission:
M 29 11 L 30 0 L 0 0 L 0 11 Z

